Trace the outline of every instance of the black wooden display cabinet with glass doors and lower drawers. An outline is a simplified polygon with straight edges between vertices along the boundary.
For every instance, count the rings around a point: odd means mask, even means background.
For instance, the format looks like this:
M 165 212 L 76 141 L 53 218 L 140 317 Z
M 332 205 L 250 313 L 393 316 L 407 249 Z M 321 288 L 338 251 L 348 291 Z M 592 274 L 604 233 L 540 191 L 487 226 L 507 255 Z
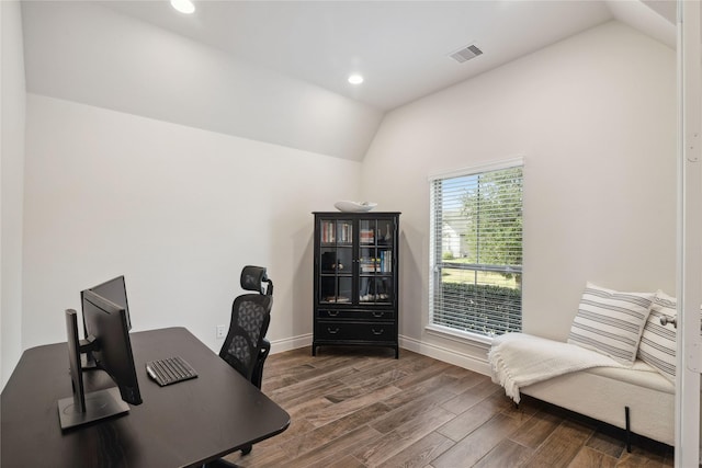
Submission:
M 387 346 L 399 357 L 399 213 L 314 213 L 314 338 Z

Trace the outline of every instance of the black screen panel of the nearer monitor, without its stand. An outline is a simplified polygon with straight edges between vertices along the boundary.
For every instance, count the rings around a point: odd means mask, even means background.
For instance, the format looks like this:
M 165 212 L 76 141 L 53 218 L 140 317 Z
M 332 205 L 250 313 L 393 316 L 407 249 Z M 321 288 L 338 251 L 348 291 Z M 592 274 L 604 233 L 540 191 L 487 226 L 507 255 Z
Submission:
M 126 310 L 92 290 L 82 296 L 83 323 L 87 339 L 95 342 L 91 347 L 98 368 L 110 374 L 124 401 L 141 403 Z

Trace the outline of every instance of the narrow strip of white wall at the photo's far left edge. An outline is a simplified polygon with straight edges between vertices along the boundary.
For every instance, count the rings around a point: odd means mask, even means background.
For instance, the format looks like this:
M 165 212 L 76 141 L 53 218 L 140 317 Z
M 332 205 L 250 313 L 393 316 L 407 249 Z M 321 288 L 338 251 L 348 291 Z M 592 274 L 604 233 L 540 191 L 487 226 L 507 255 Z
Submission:
M 0 2 L 2 158 L 0 256 L 0 388 L 22 354 L 22 191 L 24 184 L 24 60 L 20 3 Z

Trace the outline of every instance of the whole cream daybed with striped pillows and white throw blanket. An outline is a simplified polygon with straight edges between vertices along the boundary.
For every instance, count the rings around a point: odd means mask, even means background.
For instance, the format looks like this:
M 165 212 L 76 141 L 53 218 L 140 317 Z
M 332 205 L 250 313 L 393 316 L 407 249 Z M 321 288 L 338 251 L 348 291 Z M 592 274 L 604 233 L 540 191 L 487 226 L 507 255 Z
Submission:
M 517 402 L 529 395 L 624 429 L 627 443 L 635 433 L 672 446 L 676 318 L 676 298 L 661 290 L 621 293 L 588 282 L 567 343 L 497 336 L 492 379 Z

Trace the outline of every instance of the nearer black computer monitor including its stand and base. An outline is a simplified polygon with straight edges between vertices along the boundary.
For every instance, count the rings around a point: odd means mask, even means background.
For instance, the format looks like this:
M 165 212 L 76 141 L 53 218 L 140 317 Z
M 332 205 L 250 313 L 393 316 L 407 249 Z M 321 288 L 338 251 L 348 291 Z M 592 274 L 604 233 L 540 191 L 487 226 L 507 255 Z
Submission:
M 125 309 L 91 290 L 82 292 L 82 308 L 84 340 L 78 336 L 76 311 L 66 311 L 73 396 L 58 401 L 63 430 L 128 412 L 126 403 L 141 403 Z M 116 388 L 86 393 L 80 355 L 87 352 L 92 353 L 97 367 L 110 375 Z

